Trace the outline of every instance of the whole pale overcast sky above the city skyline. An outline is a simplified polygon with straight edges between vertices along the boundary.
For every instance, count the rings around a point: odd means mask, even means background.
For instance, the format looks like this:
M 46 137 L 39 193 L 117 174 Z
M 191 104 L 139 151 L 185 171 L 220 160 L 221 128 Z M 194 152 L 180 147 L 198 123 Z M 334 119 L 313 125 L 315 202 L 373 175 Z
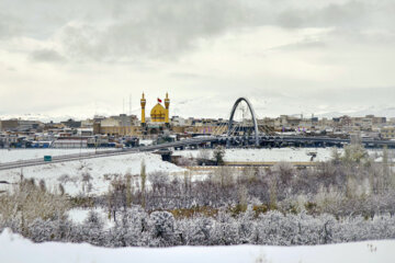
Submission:
M 1 0 L 0 115 L 395 107 L 393 0 Z M 125 106 L 123 106 L 125 101 Z M 124 110 L 125 108 L 125 110 Z

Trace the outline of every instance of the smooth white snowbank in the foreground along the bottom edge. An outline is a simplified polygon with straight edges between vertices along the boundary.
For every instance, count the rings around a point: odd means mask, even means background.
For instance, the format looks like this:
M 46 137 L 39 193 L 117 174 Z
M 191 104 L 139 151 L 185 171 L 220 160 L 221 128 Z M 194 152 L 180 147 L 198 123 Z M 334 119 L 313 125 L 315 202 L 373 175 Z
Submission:
M 106 249 L 77 243 L 33 243 L 5 229 L 0 235 L 0 262 L 227 262 L 227 263 L 393 263 L 395 241 L 365 241 L 315 247 L 177 247 Z M 22 253 L 21 253 L 22 252 Z

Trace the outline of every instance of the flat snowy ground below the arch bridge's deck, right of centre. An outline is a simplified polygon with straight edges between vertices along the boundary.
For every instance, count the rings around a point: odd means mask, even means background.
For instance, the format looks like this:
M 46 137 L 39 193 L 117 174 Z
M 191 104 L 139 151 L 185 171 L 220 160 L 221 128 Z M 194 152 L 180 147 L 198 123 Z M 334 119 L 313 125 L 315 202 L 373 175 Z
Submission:
M 207 150 L 208 156 L 213 156 L 213 150 Z M 182 150 L 174 151 L 174 156 L 198 157 L 200 150 Z M 308 153 L 316 152 L 317 157 L 314 161 L 328 161 L 332 155 L 332 148 L 272 148 L 272 149 L 226 149 L 225 161 L 234 162 L 308 162 L 311 156 Z M 342 149 L 338 149 L 342 153 Z M 370 156 L 373 158 L 382 156 L 382 150 L 369 150 Z M 394 150 L 390 151 L 394 156 Z

